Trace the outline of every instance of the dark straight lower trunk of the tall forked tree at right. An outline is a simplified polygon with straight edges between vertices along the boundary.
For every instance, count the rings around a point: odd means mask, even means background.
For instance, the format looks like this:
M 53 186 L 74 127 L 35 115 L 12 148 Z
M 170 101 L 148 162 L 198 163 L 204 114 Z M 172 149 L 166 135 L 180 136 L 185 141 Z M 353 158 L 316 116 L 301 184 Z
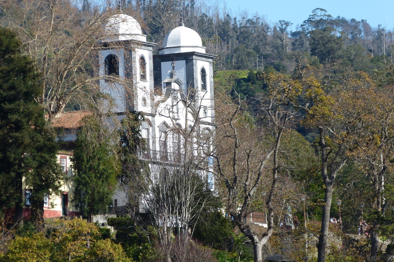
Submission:
M 320 231 L 319 243 L 318 243 L 318 262 L 326 261 L 332 192 L 333 192 L 332 184 L 326 185 L 325 197 L 324 197 L 325 205 L 323 206 L 323 213 L 322 213 L 322 228 Z

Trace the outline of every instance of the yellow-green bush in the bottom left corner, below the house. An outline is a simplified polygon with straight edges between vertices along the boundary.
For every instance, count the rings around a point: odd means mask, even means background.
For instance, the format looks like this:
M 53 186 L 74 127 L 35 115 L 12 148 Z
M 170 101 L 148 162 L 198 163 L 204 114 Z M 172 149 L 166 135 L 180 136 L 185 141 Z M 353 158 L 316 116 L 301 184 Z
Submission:
M 132 261 L 99 228 L 83 220 L 52 220 L 46 232 L 16 236 L 3 257 L 8 261 Z

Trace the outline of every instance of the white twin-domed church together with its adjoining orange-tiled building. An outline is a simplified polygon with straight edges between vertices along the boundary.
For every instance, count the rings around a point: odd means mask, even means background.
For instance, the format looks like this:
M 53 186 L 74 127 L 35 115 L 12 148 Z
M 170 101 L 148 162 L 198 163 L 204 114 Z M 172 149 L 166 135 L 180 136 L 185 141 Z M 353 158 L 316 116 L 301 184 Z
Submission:
M 202 39 L 187 28 L 182 18 L 179 26 L 163 40 L 158 54 L 155 43 L 148 42 L 140 24 L 126 14 L 113 15 L 106 26 L 108 37 L 97 43 L 100 90 L 108 99 L 103 110 L 110 110 L 118 120 L 127 112 L 141 112 L 145 121 L 141 135 L 147 151 L 141 159 L 149 165 L 176 164 L 187 150 L 192 154 L 211 150 L 214 134 L 213 66 L 214 55 L 206 53 Z M 64 141 L 75 141 L 78 123 L 89 115 L 86 111 L 65 112 L 53 122 L 66 130 Z M 190 132 L 180 132 L 189 130 Z M 192 138 L 181 134 L 193 134 Z M 61 170 L 72 177 L 71 148 L 58 154 Z M 204 176 L 213 190 L 212 158 L 206 158 Z M 46 196 L 44 217 L 73 216 L 80 212 L 73 207 L 72 182 L 65 181 L 61 195 Z M 25 190 L 28 207 L 29 190 Z M 113 205 L 127 204 L 127 193 L 118 189 Z

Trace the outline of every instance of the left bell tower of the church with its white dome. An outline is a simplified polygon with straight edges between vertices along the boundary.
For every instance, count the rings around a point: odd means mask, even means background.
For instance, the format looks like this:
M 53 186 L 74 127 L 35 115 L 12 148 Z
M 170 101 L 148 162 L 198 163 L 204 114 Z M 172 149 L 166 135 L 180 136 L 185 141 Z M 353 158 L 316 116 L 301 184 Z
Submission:
M 104 109 L 120 115 L 129 111 L 151 114 L 155 45 L 146 41 L 140 24 L 129 15 L 113 15 L 100 45 L 100 89 L 107 94 Z

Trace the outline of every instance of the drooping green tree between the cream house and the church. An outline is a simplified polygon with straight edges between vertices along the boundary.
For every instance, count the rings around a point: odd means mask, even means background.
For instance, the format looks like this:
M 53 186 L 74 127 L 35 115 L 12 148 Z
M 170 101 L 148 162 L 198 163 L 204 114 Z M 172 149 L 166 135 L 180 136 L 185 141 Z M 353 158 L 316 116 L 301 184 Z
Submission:
M 74 198 L 82 215 L 105 212 L 117 185 L 119 159 L 114 154 L 109 127 L 100 119 L 86 118 L 71 158 L 74 170 Z

